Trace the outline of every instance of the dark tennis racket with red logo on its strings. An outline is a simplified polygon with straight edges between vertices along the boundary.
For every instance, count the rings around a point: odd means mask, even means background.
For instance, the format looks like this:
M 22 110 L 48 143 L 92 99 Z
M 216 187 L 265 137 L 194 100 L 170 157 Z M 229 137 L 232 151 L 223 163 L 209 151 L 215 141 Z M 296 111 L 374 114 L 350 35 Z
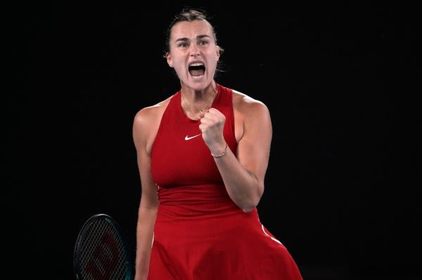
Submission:
M 84 223 L 77 236 L 73 267 L 78 280 L 132 280 L 133 262 L 120 226 L 106 214 Z

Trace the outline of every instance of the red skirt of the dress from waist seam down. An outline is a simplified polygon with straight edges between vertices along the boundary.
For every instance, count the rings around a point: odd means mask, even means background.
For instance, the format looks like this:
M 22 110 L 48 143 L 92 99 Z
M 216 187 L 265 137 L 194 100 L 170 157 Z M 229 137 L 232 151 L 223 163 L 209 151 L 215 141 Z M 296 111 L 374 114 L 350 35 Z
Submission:
M 301 280 L 285 246 L 221 185 L 158 189 L 148 280 Z

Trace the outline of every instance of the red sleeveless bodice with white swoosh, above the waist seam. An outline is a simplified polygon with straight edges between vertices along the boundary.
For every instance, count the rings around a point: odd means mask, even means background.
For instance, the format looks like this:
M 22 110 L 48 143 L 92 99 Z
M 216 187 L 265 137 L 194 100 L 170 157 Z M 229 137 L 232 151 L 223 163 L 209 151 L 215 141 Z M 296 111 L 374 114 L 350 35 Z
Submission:
M 232 91 L 217 86 L 212 107 L 226 116 L 224 139 L 236 152 Z M 160 187 L 215 184 L 223 185 L 210 149 L 203 141 L 199 121 L 188 119 L 180 105 L 180 91 L 172 96 L 165 110 L 152 150 L 151 172 Z M 196 136 L 195 138 L 191 138 Z M 186 136 L 191 138 L 185 140 Z

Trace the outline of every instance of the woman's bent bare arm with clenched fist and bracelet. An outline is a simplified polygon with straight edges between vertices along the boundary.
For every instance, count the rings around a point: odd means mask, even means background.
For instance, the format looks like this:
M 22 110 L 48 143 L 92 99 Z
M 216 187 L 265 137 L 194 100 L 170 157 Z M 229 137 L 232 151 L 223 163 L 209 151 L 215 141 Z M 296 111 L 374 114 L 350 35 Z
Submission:
M 238 140 L 237 158 L 230 149 L 223 156 L 215 157 L 226 190 L 244 212 L 252 211 L 264 193 L 264 177 L 269 161 L 272 126 L 269 110 L 264 103 L 245 97 L 236 105 L 243 126 Z M 220 155 L 226 148 L 223 137 L 225 117 L 217 109 L 210 109 L 201 119 L 203 139 L 213 155 Z

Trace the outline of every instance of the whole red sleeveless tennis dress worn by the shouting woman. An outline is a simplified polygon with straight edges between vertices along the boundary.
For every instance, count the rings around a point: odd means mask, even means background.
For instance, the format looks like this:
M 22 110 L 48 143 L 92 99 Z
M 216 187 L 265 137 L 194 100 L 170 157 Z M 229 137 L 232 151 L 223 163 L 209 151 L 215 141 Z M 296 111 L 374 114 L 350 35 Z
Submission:
M 226 116 L 224 139 L 236 153 L 233 91 L 217 84 L 212 107 Z M 226 192 L 210 149 L 181 109 L 180 91 L 167 105 L 153 144 L 158 186 L 149 280 L 302 279 L 287 249 L 244 213 Z

